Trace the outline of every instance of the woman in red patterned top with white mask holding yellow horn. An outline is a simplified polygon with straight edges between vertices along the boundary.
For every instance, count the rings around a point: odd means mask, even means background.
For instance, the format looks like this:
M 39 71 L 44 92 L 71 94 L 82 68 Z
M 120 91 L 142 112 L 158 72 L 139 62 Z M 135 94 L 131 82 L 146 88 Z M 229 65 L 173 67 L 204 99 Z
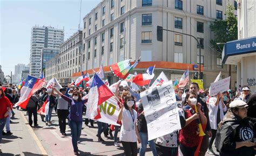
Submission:
M 196 108 L 198 113 L 196 113 Z M 197 102 L 195 93 L 188 93 L 183 105 L 181 115 L 186 120 L 186 124 L 179 131 L 179 155 L 193 156 L 199 144 L 199 127 L 197 120 L 200 119 L 202 125 L 206 125 L 207 119 L 201 110 L 201 104 Z

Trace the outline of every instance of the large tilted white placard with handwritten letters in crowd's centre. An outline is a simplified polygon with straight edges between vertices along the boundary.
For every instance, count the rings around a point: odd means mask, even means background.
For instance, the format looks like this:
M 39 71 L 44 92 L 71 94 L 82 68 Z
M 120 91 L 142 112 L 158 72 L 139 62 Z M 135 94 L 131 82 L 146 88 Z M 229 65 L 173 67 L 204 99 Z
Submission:
M 140 93 L 149 140 L 180 130 L 178 106 L 172 81 Z

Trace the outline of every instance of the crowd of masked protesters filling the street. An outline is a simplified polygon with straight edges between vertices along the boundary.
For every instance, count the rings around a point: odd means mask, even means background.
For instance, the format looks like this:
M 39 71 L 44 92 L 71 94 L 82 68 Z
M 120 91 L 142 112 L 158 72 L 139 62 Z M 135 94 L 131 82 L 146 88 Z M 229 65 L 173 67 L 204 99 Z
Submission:
M 120 107 L 118 123 L 121 126 L 109 125 L 92 119 L 84 119 L 85 125 L 98 126 L 96 136 L 98 141 L 112 138 L 114 146 L 123 145 L 126 156 L 137 155 L 137 143 L 140 144 L 139 155 L 145 155 L 147 144 L 150 145 L 152 155 L 194 155 L 199 144 L 199 126 L 204 127 L 204 135 L 199 155 L 216 154 L 213 146 L 217 147 L 220 155 L 251 156 L 256 150 L 256 94 L 250 93 L 250 87 L 239 87 L 238 91 L 228 90 L 210 97 L 209 90 L 199 90 L 197 83 L 191 83 L 187 88 L 176 90 L 176 100 L 182 101 L 179 106 L 181 130 L 164 135 L 154 140 L 148 140 L 147 123 L 145 119 L 140 92 L 142 87 L 133 92 L 128 86 L 120 83 L 114 92 Z M 49 100 L 49 110 L 46 116 L 40 114 L 42 121 L 51 126 L 52 111 L 58 116 L 59 132 L 66 134 L 66 121 L 71 128 L 72 146 L 75 155 L 78 155 L 77 142 L 83 127 L 83 114 L 86 112 L 86 94 L 89 87 L 74 87 L 68 85 L 60 90 L 53 87 L 51 90 L 43 87 L 31 96 L 26 111 L 29 125 L 37 127 L 37 111 Z M 10 130 L 11 118 L 15 117 L 13 106 L 17 103 L 20 93 L 15 85 L 0 86 L 0 141 L 2 135 L 12 135 Z M 196 112 L 196 108 L 198 112 Z M 22 109 L 18 108 L 17 109 Z M 33 119 L 32 119 L 33 117 Z M 6 127 L 6 132 L 4 131 Z M 114 135 L 112 134 L 114 132 Z M 118 139 L 118 132 L 120 137 Z M 109 137 L 110 136 L 110 137 Z M 215 145 L 213 144 L 215 140 Z

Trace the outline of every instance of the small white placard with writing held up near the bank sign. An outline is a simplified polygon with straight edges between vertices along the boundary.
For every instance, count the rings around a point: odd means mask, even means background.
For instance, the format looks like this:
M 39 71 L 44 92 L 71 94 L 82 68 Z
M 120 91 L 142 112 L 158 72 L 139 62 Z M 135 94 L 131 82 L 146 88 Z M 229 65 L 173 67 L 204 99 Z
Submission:
M 218 82 L 211 83 L 210 96 L 215 96 L 219 92 L 225 92 L 230 89 L 230 77 L 219 80 Z

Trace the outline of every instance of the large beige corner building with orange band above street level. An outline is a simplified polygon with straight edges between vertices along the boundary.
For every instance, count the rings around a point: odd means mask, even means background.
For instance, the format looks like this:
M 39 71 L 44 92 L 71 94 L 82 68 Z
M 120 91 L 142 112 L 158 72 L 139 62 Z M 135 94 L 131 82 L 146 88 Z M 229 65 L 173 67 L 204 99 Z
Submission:
M 107 66 L 142 56 L 142 62 L 136 69 L 139 72 L 145 72 L 146 67 L 156 64 L 156 76 L 164 70 L 170 79 L 174 79 L 180 78 L 189 66 L 192 71 L 190 77 L 193 77 L 193 73 L 198 70 L 193 65 L 199 64 L 196 40 L 180 33 L 164 31 L 163 42 L 158 42 L 156 36 L 159 25 L 198 38 L 202 48 L 203 79 L 205 87 L 209 87 L 219 71 L 222 71 L 223 78 L 228 77 L 227 66 L 221 63 L 221 58 L 210 44 L 214 37 L 210 24 L 215 19 L 226 18 L 228 3 L 236 4 L 233 0 L 102 1 L 83 18 L 82 53 L 85 53 L 86 61 L 82 66 L 95 69 L 100 64 Z M 237 15 L 237 10 L 234 13 Z M 231 86 L 234 88 L 234 66 L 231 74 Z M 73 77 L 78 75 L 75 73 Z

